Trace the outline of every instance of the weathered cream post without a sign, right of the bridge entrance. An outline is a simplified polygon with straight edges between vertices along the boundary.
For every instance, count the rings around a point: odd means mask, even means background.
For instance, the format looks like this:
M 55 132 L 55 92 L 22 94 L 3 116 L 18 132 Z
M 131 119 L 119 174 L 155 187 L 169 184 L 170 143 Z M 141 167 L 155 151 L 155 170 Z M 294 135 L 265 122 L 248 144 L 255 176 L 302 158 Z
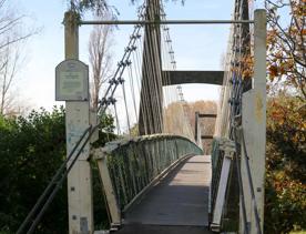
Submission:
M 266 151 L 266 11 L 254 12 L 254 79 L 253 89 L 243 94 L 242 125 L 248 159 L 242 150 L 241 171 L 251 233 L 258 233 L 255 222 L 245 160 L 248 160 L 253 179 L 255 201 L 263 231 Z M 243 224 L 241 225 L 243 233 Z

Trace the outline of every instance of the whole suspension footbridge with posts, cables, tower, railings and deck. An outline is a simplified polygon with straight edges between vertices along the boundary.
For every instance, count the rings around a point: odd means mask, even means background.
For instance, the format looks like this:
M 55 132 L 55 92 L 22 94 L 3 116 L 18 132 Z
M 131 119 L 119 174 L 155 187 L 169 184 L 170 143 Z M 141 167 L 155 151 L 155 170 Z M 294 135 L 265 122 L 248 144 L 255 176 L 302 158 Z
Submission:
M 34 233 L 68 182 L 69 233 L 263 233 L 266 128 L 266 12 L 235 0 L 233 19 L 166 20 L 159 0 L 145 1 L 134 21 L 85 21 L 68 11 L 65 60 L 57 67 L 57 100 L 65 101 L 67 160 L 18 233 Z M 171 24 L 231 24 L 223 71 L 177 71 Z M 79 27 L 134 24 L 113 77 L 90 108 L 88 67 L 79 61 Z M 186 26 L 187 27 L 187 26 Z M 180 62 L 180 61 L 177 61 Z M 74 79 L 74 80 L 73 80 Z M 221 87 L 214 135 L 187 118 L 182 84 Z M 103 116 L 116 134 L 106 144 Z M 102 120 L 102 121 L 101 121 Z M 211 155 L 202 141 L 213 139 Z M 92 164 L 110 227 L 95 228 Z

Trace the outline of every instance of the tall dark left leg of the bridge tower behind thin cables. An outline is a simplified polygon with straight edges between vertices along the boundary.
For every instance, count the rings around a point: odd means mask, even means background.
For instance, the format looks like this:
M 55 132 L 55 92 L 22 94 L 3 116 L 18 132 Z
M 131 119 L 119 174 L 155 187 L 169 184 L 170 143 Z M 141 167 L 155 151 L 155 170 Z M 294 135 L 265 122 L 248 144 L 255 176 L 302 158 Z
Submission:
M 160 0 L 147 0 L 145 20 L 160 20 Z M 163 84 L 161 59 L 161 29 L 159 24 L 144 26 L 142 90 L 140 103 L 140 135 L 163 131 Z

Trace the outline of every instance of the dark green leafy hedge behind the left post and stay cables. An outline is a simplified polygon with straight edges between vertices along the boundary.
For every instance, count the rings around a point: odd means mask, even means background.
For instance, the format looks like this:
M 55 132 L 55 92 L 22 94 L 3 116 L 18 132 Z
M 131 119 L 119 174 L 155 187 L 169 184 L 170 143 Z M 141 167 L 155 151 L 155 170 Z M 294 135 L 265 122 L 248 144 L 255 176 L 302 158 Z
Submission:
M 65 112 L 32 111 L 28 116 L 0 115 L 0 233 L 16 233 L 54 172 L 65 159 Z M 102 119 L 103 133 L 95 144 L 116 138 L 113 119 Z M 105 133 L 110 132 L 110 133 Z M 96 225 L 106 225 L 108 216 L 101 196 L 99 173 L 93 170 L 94 213 Z M 43 216 L 37 233 L 67 233 L 67 184 L 60 190 Z

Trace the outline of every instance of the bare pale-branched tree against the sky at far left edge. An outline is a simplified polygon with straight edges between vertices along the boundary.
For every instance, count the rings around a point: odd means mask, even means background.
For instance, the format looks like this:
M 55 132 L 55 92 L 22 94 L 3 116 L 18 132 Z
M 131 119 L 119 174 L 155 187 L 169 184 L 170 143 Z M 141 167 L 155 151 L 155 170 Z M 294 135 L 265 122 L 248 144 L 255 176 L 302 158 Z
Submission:
M 0 114 L 14 113 L 12 87 L 21 67 L 21 47 L 34 32 L 23 32 L 24 16 L 16 16 L 9 10 L 7 0 L 0 0 Z

